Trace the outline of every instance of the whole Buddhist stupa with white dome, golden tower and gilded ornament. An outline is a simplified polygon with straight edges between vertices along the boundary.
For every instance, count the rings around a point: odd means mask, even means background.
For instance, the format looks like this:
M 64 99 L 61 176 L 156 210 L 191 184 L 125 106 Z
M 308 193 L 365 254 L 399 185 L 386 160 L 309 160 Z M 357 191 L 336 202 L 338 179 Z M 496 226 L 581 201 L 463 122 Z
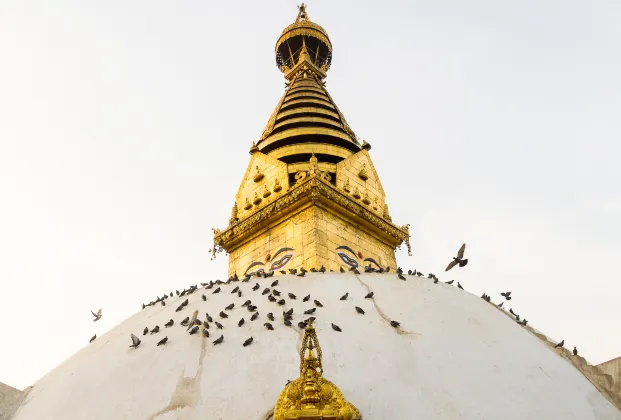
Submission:
M 300 6 L 276 43 L 285 94 L 214 232 L 228 280 L 153 299 L 14 420 L 621 419 L 611 376 L 490 299 L 396 272 L 409 231 L 326 90 L 331 59 Z

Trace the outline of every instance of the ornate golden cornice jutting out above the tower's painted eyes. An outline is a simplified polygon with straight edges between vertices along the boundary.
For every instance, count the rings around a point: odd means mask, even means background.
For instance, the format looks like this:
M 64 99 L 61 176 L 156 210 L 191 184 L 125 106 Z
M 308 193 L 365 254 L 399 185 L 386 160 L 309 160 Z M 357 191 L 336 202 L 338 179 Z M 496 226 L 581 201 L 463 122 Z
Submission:
M 214 243 L 227 251 L 234 249 L 244 239 L 264 229 L 271 220 L 290 214 L 296 206 L 308 202 L 321 201 L 335 211 L 353 215 L 359 221 L 374 228 L 392 246 L 409 242 L 407 227 L 397 227 L 391 222 L 368 210 L 337 190 L 333 185 L 321 178 L 319 172 L 309 175 L 291 188 L 287 193 L 271 203 L 259 208 L 256 212 L 238 221 L 235 225 L 219 231 L 214 230 Z M 287 214 L 285 214 L 287 210 Z

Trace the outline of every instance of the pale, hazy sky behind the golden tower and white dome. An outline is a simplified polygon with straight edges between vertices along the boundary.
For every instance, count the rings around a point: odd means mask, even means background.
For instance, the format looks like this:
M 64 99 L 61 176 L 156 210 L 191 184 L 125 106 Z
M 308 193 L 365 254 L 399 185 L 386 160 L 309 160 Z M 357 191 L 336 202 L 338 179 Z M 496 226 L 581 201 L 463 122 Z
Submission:
M 295 6 L 2 2 L 0 382 L 31 385 L 142 302 L 226 277 L 211 228 L 283 93 Z M 621 3 L 308 13 L 334 45 L 327 88 L 411 225 L 399 264 L 513 291 L 589 362 L 621 356 Z M 444 274 L 462 242 L 470 264 Z

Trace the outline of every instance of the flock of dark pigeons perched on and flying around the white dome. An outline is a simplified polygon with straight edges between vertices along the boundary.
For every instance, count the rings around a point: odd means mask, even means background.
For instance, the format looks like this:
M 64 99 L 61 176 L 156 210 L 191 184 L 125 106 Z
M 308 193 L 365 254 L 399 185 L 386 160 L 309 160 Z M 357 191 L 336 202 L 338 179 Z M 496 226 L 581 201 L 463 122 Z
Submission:
M 457 256 L 453 257 L 453 260 L 448 264 L 448 266 L 446 267 L 445 271 L 449 271 L 452 268 L 454 268 L 455 266 L 459 266 L 459 267 L 465 267 L 468 264 L 468 259 L 464 258 L 464 253 L 466 250 L 466 244 L 463 244 L 460 248 L 459 251 L 457 252 Z M 389 273 L 390 272 L 390 267 L 387 268 L 374 268 L 372 267 L 370 264 L 368 266 L 364 267 L 364 272 L 365 273 Z M 321 266 L 320 268 L 311 268 L 310 272 L 313 273 L 325 273 L 327 270 L 324 266 Z M 330 270 L 332 271 L 332 270 Z M 355 274 L 360 274 L 360 271 L 355 268 L 352 267 L 350 268 L 351 272 L 355 273 Z M 304 277 L 306 275 L 308 271 L 302 267 L 300 269 L 289 269 L 289 274 L 292 275 L 296 275 L 298 277 Z M 340 272 L 344 273 L 346 272 L 346 270 L 343 269 L 343 267 L 340 268 Z M 287 274 L 286 271 L 281 270 L 280 271 L 281 274 Z M 404 275 L 403 270 L 398 267 L 396 270 L 396 274 L 397 274 L 397 278 L 401 281 L 406 281 L 407 277 Z M 407 272 L 408 276 L 416 276 L 416 277 L 422 277 L 423 273 L 421 273 L 420 271 L 417 270 L 408 270 Z M 231 289 L 230 294 L 235 295 L 235 298 L 239 299 L 243 296 L 243 293 L 256 293 L 258 292 L 259 289 L 261 289 L 261 286 L 258 282 L 255 282 L 254 286 L 250 289 L 250 291 L 246 291 L 243 292 L 241 290 L 241 284 L 240 283 L 248 283 L 250 282 L 251 279 L 253 278 L 270 278 L 274 276 L 274 271 L 271 272 L 264 272 L 264 271 L 260 271 L 258 273 L 255 273 L 253 275 L 249 275 L 246 274 L 242 279 L 240 279 L 237 274 L 231 276 L 227 281 L 221 281 L 221 280 L 216 280 L 216 281 L 209 281 L 208 283 L 200 283 L 200 289 L 201 289 L 201 296 L 200 299 L 203 302 L 207 302 L 209 301 L 208 296 L 205 294 L 209 294 L 209 292 L 211 292 L 211 294 L 217 294 L 220 292 L 223 292 L 224 288 L 227 288 L 227 286 L 233 286 L 235 285 L 234 288 Z M 427 278 L 430 280 L 433 280 L 434 284 L 437 284 L 439 282 L 439 279 L 436 277 L 435 274 L 433 273 L 429 273 L 427 275 Z M 450 281 L 446 281 L 445 284 L 447 285 L 452 285 L 454 282 L 454 280 L 450 280 Z M 298 297 L 291 293 L 291 292 L 281 292 L 278 289 L 276 289 L 276 287 L 278 286 L 278 279 L 274 280 L 271 282 L 270 287 L 265 287 L 263 288 L 263 291 L 259 294 L 256 293 L 256 297 L 254 298 L 255 300 L 259 300 L 259 299 L 266 299 L 267 301 L 271 302 L 271 303 L 276 303 L 279 307 L 283 307 L 287 304 L 286 299 L 283 297 L 284 295 L 286 295 L 286 297 L 290 300 L 290 301 L 297 301 Z M 463 286 L 457 282 L 457 287 L 459 289 L 464 289 Z M 178 298 L 183 298 L 185 297 L 185 300 L 183 300 L 179 306 L 175 309 L 175 312 L 182 312 L 185 307 L 189 304 L 189 296 L 194 294 L 196 291 L 199 290 L 199 286 L 198 285 L 192 285 L 187 289 L 184 289 L 183 291 L 179 292 L 179 290 L 175 291 L 175 294 L 173 294 L 173 292 L 170 292 L 168 294 L 164 294 L 162 297 L 157 297 L 155 300 L 152 300 L 151 302 L 149 302 L 148 304 L 142 304 L 142 309 L 146 309 L 148 307 L 152 307 L 155 305 L 161 305 L 161 306 L 165 306 L 166 305 L 166 300 L 168 300 L 169 298 L 173 298 L 175 295 Z M 500 293 L 500 296 L 502 298 L 504 298 L 504 301 L 502 301 L 501 303 L 497 304 L 496 307 L 503 309 L 503 305 L 505 303 L 505 301 L 510 301 L 512 299 L 511 296 L 512 292 L 502 292 Z M 265 297 L 267 295 L 267 297 Z M 337 297 L 335 297 L 336 299 Z M 349 298 L 349 293 L 345 293 L 344 295 L 338 297 L 339 300 L 341 301 L 347 301 Z M 373 299 L 374 298 L 374 292 L 369 292 L 368 294 L 366 294 L 364 296 L 364 299 Z M 486 302 L 492 303 L 491 302 L 491 297 L 487 294 L 483 294 L 481 296 L 481 298 L 483 300 L 485 300 Z M 307 295 L 302 299 L 302 302 L 306 303 L 309 300 L 311 300 L 311 295 Z M 308 309 L 302 311 L 302 313 L 300 314 L 301 318 L 298 322 L 295 322 L 295 324 L 300 328 L 300 329 L 304 329 L 306 328 L 309 323 L 312 323 L 315 321 L 316 316 L 319 316 L 319 313 L 317 312 L 318 309 L 323 307 L 323 304 L 317 300 L 317 299 L 313 299 L 313 304 L 314 306 L 309 307 Z M 227 318 L 229 318 L 229 313 L 231 314 L 231 316 L 233 316 L 233 310 L 236 307 L 236 302 L 231 302 L 229 305 L 225 306 L 218 314 L 217 317 L 219 317 L 222 322 L 224 322 Z M 250 318 L 248 322 L 254 322 L 257 319 L 259 319 L 259 317 L 261 317 L 260 312 L 258 311 L 258 306 L 253 303 L 253 299 L 246 299 L 245 302 L 240 305 L 240 310 L 241 309 L 245 309 L 249 312 Z M 359 315 L 365 315 L 365 311 L 360 307 L 360 306 L 353 306 L 353 310 L 359 314 Z M 265 318 L 267 319 L 268 322 L 263 323 L 263 326 L 266 328 L 266 330 L 268 331 L 273 331 L 274 327 L 275 327 L 275 323 L 276 321 L 276 316 L 274 315 L 274 313 L 279 312 L 280 310 L 276 311 L 273 310 L 272 312 L 269 312 L 265 315 Z M 518 315 L 517 313 L 515 313 L 513 311 L 512 308 L 509 308 L 509 312 L 508 312 L 514 319 L 515 321 L 520 324 L 521 326 L 526 326 L 528 321 L 526 320 L 526 318 L 521 318 L 520 315 Z M 98 320 L 101 319 L 102 317 L 102 310 L 99 309 L 97 313 L 94 313 L 91 311 L 91 314 L 93 315 L 94 319 L 93 321 L 96 322 Z M 212 324 L 215 327 L 215 329 L 217 330 L 224 330 L 225 327 L 218 321 L 215 321 L 214 318 L 207 312 L 204 312 L 204 320 L 201 320 L 201 315 L 199 313 L 199 310 L 195 310 L 191 316 L 185 316 L 178 325 L 185 327 L 185 331 L 187 332 L 188 335 L 202 335 L 203 337 L 210 337 L 211 333 L 214 333 L 214 330 L 212 329 Z M 282 319 L 282 323 L 284 326 L 286 327 L 293 327 L 294 324 L 294 309 L 293 308 L 289 308 L 288 310 L 282 310 L 282 317 L 278 316 L 279 319 Z M 239 320 L 237 321 L 237 326 L 241 327 L 246 323 L 246 319 L 242 316 L 239 318 Z M 390 326 L 393 328 L 400 328 L 401 327 L 401 323 L 396 321 L 396 320 L 389 320 Z M 342 328 L 334 323 L 330 323 L 332 330 L 336 331 L 336 332 L 342 332 Z M 175 325 L 175 320 L 170 319 L 166 324 L 164 324 L 164 328 L 172 328 Z M 211 333 L 210 333 L 210 329 L 211 329 Z M 144 330 L 142 331 L 142 335 L 143 336 L 147 336 L 148 335 L 156 335 L 159 334 L 161 331 L 160 326 L 159 325 L 155 325 L 152 328 L 149 328 L 148 326 L 144 327 Z M 92 343 L 93 341 L 95 341 L 95 339 L 97 338 L 97 334 L 93 335 L 93 337 L 90 339 L 90 342 Z M 138 349 L 138 347 L 141 345 L 142 340 L 140 338 L 138 338 L 135 334 L 131 333 L 130 335 L 131 338 L 131 345 L 129 346 L 130 348 L 133 349 Z M 144 339 L 144 338 L 143 338 Z M 246 338 L 241 345 L 243 347 L 248 347 L 250 345 L 252 345 L 254 341 L 254 338 L 252 336 Z M 155 342 L 156 346 L 165 346 L 167 343 L 169 342 L 168 336 L 165 336 L 161 339 L 159 339 L 157 342 Z M 213 340 L 213 345 L 218 345 L 224 342 L 224 334 L 220 333 L 219 337 L 217 337 L 215 340 Z M 554 346 L 555 348 L 563 348 L 565 345 L 565 340 L 559 342 L 556 346 Z M 573 349 L 573 354 L 574 356 L 578 355 L 578 350 L 576 349 L 576 347 L 574 347 Z

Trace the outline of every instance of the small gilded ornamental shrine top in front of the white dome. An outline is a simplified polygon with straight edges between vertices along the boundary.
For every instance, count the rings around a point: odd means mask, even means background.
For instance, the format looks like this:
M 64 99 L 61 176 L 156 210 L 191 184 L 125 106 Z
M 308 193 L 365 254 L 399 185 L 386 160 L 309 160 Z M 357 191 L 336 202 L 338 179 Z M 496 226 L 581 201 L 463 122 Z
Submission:
M 341 390 L 323 377 L 321 346 L 309 323 L 300 349 L 300 376 L 289 382 L 274 407 L 274 420 L 361 420 Z

